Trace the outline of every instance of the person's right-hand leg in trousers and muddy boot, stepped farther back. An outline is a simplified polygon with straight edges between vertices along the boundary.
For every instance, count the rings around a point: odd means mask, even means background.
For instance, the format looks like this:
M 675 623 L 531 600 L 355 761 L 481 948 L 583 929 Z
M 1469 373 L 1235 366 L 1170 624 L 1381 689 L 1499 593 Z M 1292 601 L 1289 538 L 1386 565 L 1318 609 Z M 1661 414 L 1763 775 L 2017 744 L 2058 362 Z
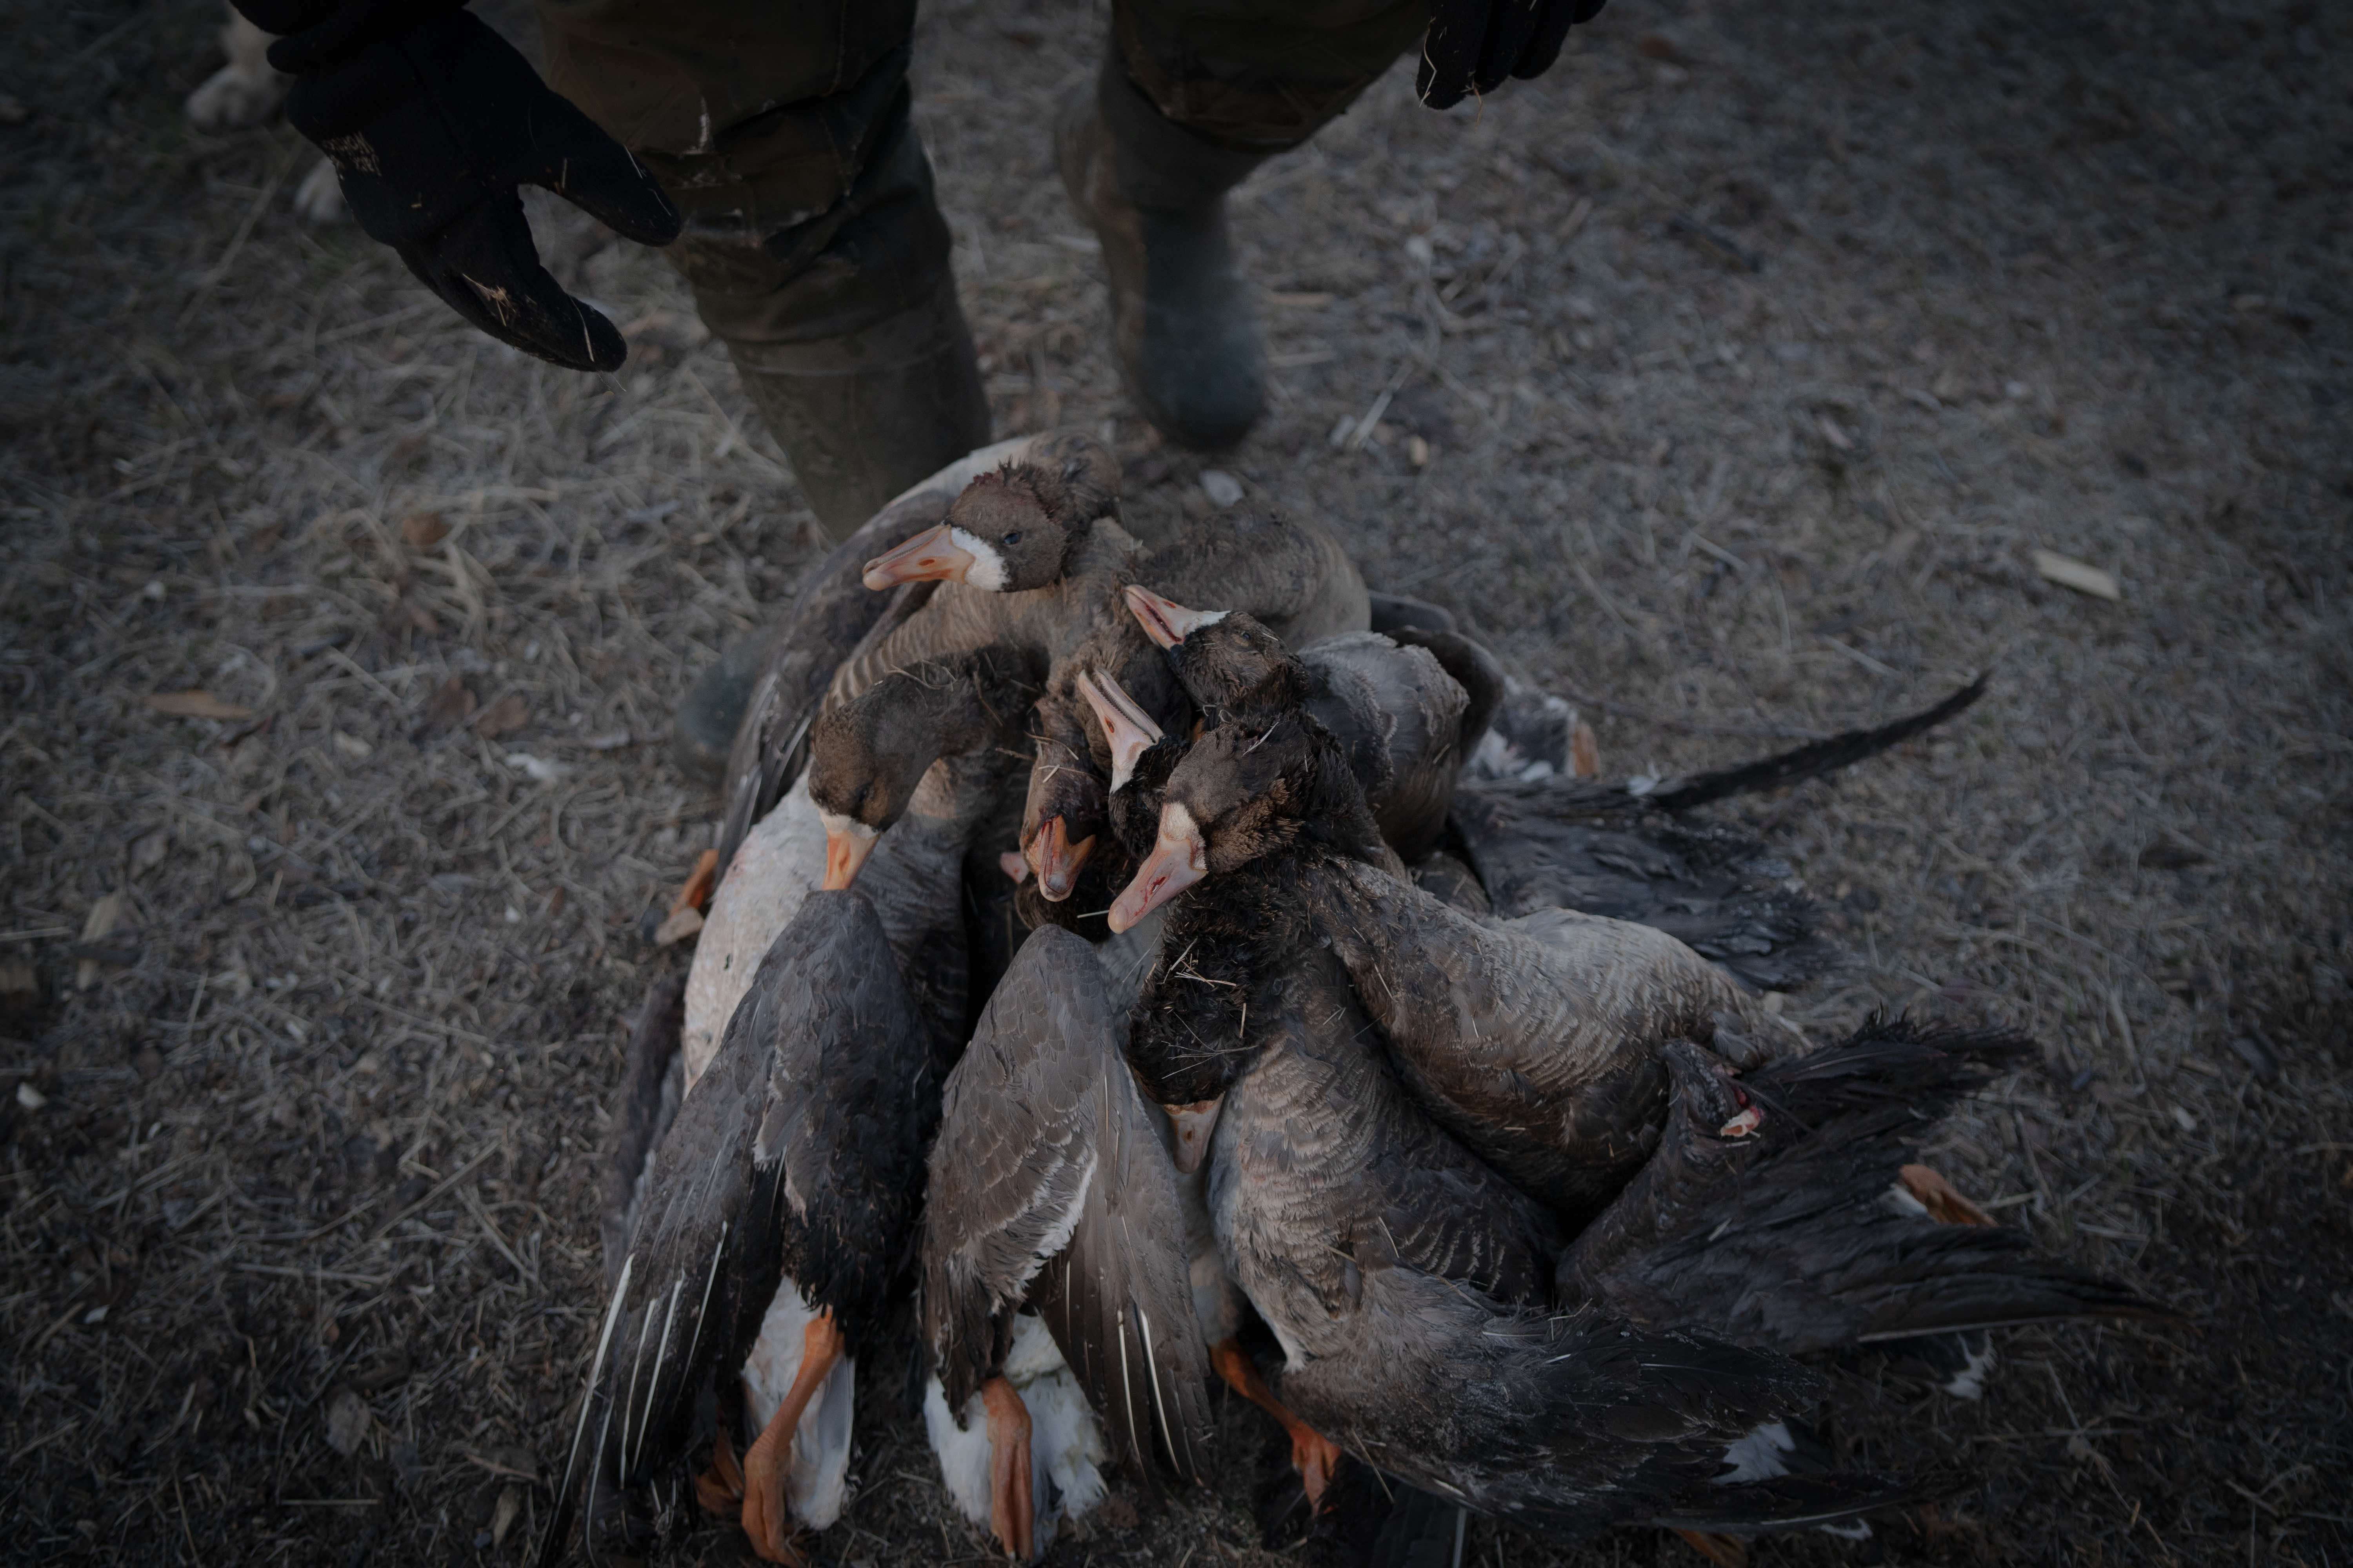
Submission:
M 1428 0 L 1113 0 L 1104 71 L 1064 103 L 1064 186 L 1104 242 L 1120 374 L 1162 435 L 1226 447 L 1266 360 L 1226 190 L 1348 108 Z

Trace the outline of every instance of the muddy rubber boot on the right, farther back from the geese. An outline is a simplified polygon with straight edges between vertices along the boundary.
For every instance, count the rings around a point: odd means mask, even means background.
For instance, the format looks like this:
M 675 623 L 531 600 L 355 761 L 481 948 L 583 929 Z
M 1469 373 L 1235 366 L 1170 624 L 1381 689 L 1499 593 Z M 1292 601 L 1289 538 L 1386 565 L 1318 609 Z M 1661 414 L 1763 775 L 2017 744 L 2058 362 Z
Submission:
M 1266 153 L 1221 148 L 1167 120 L 1115 59 L 1064 99 L 1054 155 L 1104 244 L 1111 346 L 1160 435 L 1219 449 L 1266 411 L 1266 350 L 1233 266 L 1226 193 Z

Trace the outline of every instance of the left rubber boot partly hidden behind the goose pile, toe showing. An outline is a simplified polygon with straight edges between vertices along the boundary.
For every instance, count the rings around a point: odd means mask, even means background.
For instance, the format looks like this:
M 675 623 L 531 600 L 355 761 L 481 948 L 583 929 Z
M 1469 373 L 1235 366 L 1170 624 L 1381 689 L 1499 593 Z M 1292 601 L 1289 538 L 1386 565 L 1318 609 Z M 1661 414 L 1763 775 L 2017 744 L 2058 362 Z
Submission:
M 847 339 L 729 348 L 744 390 L 833 541 L 988 444 L 988 397 L 953 284 Z M 727 639 L 678 705 L 675 752 L 689 776 L 715 780 L 725 771 L 779 630 L 772 623 Z

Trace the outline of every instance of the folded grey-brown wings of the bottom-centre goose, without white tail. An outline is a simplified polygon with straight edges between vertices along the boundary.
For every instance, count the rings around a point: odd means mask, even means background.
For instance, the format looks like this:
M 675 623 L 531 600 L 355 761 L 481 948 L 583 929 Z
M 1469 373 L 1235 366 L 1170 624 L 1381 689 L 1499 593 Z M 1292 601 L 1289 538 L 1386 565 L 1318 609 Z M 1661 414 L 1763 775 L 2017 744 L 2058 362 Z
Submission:
M 1040 1309 L 1115 1441 L 1195 1476 L 1209 1373 L 1176 1171 L 1120 1058 L 1101 964 L 1024 943 L 948 1079 L 922 1239 L 922 1316 L 948 1408 Z

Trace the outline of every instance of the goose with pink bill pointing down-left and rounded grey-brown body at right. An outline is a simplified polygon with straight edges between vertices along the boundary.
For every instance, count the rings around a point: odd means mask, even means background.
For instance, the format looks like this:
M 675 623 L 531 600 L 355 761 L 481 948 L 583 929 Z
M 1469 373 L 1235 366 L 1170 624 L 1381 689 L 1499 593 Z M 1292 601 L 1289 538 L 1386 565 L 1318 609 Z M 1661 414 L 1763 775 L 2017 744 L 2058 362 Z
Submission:
M 1664 1044 L 1708 1041 L 1720 1016 L 1737 1023 L 1753 1004 L 1649 926 L 1567 910 L 1471 919 L 1381 870 L 1367 839 L 1362 797 L 1320 724 L 1297 708 L 1226 724 L 1169 776 L 1153 853 L 1111 926 L 1266 863 L 1353 973 L 1431 1114 L 1562 1215 L 1588 1218 L 1657 1143 Z

